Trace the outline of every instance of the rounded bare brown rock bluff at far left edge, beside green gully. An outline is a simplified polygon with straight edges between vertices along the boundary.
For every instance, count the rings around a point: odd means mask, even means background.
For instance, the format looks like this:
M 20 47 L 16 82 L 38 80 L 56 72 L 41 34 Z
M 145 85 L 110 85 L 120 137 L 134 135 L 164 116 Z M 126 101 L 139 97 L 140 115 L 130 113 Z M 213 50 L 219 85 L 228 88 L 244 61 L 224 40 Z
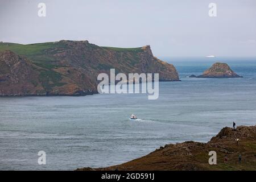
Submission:
M 11 51 L 0 52 L 0 96 L 36 94 L 42 85 L 34 82 L 39 76 L 36 67 Z

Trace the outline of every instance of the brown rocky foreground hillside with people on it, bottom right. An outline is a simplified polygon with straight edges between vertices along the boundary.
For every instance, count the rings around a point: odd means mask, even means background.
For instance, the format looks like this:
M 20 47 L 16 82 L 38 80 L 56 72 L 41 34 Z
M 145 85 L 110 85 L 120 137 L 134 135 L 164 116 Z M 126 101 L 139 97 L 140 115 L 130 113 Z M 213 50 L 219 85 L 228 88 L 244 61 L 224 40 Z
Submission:
M 236 139 L 239 139 L 238 143 Z M 209 151 L 216 151 L 217 165 L 210 166 Z M 242 161 L 238 163 L 241 154 Z M 228 163 L 224 163 L 224 156 Z M 256 170 L 256 126 L 225 127 L 208 143 L 167 144 L 151 154 L 106 168 L 78 170 Z

